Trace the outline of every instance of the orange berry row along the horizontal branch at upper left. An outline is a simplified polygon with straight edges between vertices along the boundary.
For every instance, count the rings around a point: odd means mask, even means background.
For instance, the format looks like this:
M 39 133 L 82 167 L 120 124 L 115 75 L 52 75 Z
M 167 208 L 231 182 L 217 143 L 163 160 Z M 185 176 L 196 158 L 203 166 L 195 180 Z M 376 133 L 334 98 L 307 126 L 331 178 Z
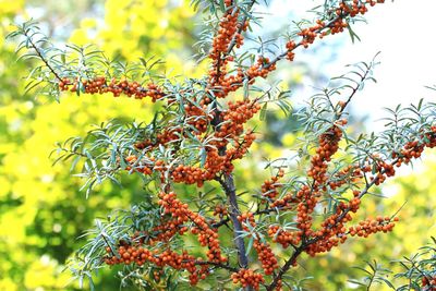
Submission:
M 76 80 L 71 81 L 66 77 L 59 82 L 59 88 L 61 90 L 77 92 L 83 90 L 87 94 L 105 94 L 112 93 L 114 97 L 119 97 L 124 94 L 129 97 L 136 99 L 143 99 L 150 97 L 153 101 L 156 101 L 165 96 L 164 92 L 156 86 L 156 84 L 148 84 L 143 86 L 137 82 L 128 82 L 125 80 L 117 81 L 112 78 L 108 84 L 105 76 L 97 76 L 92 80 Z

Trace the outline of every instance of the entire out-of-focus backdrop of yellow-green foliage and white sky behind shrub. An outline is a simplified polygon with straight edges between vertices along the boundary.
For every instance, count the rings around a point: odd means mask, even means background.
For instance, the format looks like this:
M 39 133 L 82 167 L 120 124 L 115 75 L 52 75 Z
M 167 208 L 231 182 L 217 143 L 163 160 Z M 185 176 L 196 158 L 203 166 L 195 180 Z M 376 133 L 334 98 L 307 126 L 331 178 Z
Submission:
M 286 29 L 290 19 L 305 14 L 315 1 L 270 1 L 265 8 L 263 35 L 275 36 Z M 292 5 L 296 10 L 292 10 Z M 432 1 L 399 1 L 376 7 L 370 23 L 359 24 L 362 41 L 351 44 L 347 35 L 327 38 L 301 53 L 296 62 L 280 65 L 274 74 L 282 86 L 294 92 L 295 107 L 313 87 L 325 86 L 329 76 L 346 72 L 347 63 L 370 61 L 382 51 L 378 84 L 370 85 L 352 107 L 355 114 L 350 131 L 377 131 L 382 107 L 409 104 L 424 97 L 436 100 L 435 93 L 423 89 L 436 83 L 436 60 L 431 44 Z M 292 12 L 293 11 L 293 12 Z M 401 14 L 403 13 L 403 14 Z M 374 15 L 372 15 L 374 14 Z M 305 14 L 313 17 L 311 14 Z M 197 64 L 191 56 L 202 32 L 201 17 L 189 1 L 174 0 L 0 0 L 0 290 L 76 290 L 64 264 L 84 241 L 77 240 L 94 219 L 116 208 L 129 208 L 143 197 L 141 179 L 123 177 L 123 189 L 101 185 L 87 199 L 80 192 L 82 181 L 72 177 L 68 163 L 52 165 L 49 155 L 57 142 L 84 136 L 112 118 L 147 121 L 153 106 L 147 101 L 110 96 L 63 94 L 60 104 L 45 96 L 25 94 L 26 73 L 32 66 L 16 62 L 15 44 L 5 41 L 11 23 L 29 17 L 57 41 L 96 44 L 107 56 L 133 61 L 153 56 L 165 60 L 156 68 L 177 77 L 198 76 L 207 63 Z M 254 33 L 257 31 L 254 29 Z M 301 57 L 300 57 L 301 56 Z M 238 163 L 241 189 L 255 189 L 268 172 L 258 172 L 263 157 L 289 155 L 301 133 L 294 119 L 268 112 L 258 124 L 267 132 L 254 145 L 249 160 Z M 268 129 L 268 131 L 265 131 Z M 362 276 L 353 266 L 364 260 L 389 262 L 409 256 L 436 235 L 436 155 L 427 153 L 413 170 L 403 171 L 379 193 L 387 198 L 364 202 L 371 215 L 400 211 L 401 221 L 389 234 L 376 234 L 364 241 L 350 240 L 331 253 L 316 258 L 303 257 L 298 276 L 313 277 L 308 290 L 359 290 L 349 279 Z M 117 268 L 105 269 L 97 290 L 119 290 Z M 382 287 L 377 290 L 383 290 Z

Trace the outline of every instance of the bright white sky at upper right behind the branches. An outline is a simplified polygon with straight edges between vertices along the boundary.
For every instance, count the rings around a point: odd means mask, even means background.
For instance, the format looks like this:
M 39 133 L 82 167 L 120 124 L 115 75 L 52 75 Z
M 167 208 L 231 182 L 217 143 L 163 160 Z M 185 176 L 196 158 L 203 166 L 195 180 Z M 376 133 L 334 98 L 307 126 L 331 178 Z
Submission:
M 276 0 L 271 12 L 280 17 L 286 11 L 296 8 L 303 12 L 322 2 Z M 352 44 L 348 33 L 324 40 L 343 39 L 343 45 L 337 48 L 338 59 L 323 66 L 328 76 L 340 75 L 346 72 L 346 64 L 370 61 L 377 51 L 382 52 L 380 64 L 374 72 L 377 84 L 365 86 L 353 100 L 354 109 L 370 114 L 371 121 L 384 116 L 383 107 L 409 105 L 422 97 L 436 101 L 436 92 L 424 87 L 436 85 L 435 11 L 435 0 L 386 0 L 384 4 L 370 8 L 365 14 L 367 24 L 354 25 L 362 41 Z

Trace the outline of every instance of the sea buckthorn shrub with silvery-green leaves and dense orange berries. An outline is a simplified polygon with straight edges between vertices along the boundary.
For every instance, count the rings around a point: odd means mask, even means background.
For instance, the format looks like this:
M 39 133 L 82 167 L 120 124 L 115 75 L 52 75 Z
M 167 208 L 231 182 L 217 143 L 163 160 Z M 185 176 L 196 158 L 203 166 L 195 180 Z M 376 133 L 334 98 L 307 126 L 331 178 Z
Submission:
M 282 59 L 293 61 L 296 48 L 308 48 L 316 39 L 343 32 L 354 17 L 384 1 L 325 1 L 325 11 L 315 23 L 287 38 L 282 52 L 271 58 L 257 56 L 252 62 L 242 50 L 243 34 L 254 20 L 257 1 L 193 2 L 215 12 L 217 29 L 211 33 L 209 71 L 203 78 L 184 83 L 137 78 L 141 74 L 129 73 L 133 69 L 112 68 L 116 64 L 102 54 L 85 48 L 71 47 L 71 53 L 44 50 L 37 46 L 33 32 L 38 29 L 32 23 L 12 34 L 25 37 L 24 46 L 34 50 L 46 69 L 44 80 L 56 84 L 58 93 L 149 97 L 162 105 L 162 112 L 148 124 L 102 126 L 62 148 L 65 159 L 75 156 L 84 161 L 83 175 L 89 185 L 104 178 L 118 181 L 116 174 L 129 172 L 141 175 L 158 192 L 152 191 L 141 206 L 144 209 L 99 226 L 104 231 L 78 253 L 93 264 L 82 265 L 77 276 L 90 274 L 104 262 L 134 269 L 142 283 L 159 282 L 166 271 L 186 274 L 192 286 L 226 274 L 244 290 L 282 290 L 284 275 L 302 254 L 315 256 L 350 237 L 391 231 L 396 215 L 350 222 L 368 191 L 396 174 L 395 167 L 408 165 L 424 148 L 436 146 L 436 110 L 433 104 L 420 102 L 409 108 L 415 114 L 409 119 L 398 118 L 404 113 L 402 109 L 392 110 L 393 122 L 380 137 L 349 136 L 347 107 L 363 84 L 373 80 L 374 60 L 358 64 L 353 77 L 339 77 L 342 85 L 315 95 L 299 112 L 305 140 L 299 151 L 303 172 L 293 173 L 288 170 L 292 165 L 280 165 L 258 186 L 258 195 L 253 195 L 256 199 L 237 195 L 244 192 L 237 187 L 234 173 L 235 161 L 247 156 L 256 140 L 251 122 L 268 101 L 268 94 L 256 93 L 256 78 L 267 77 Z M 153 68 L 147 61 L 141 63 L 146 72 Z M 241 88 L 243 98 L 238 98 Z M 217 182 L 220 190 L 208 194 L 199 190 Z M 189 197 L 180 191 L 185 185 L 191 185 L 185 187 Z M 193 191 L 195 186 L 197 191 Z M 425 277 L 423 286 L 431 279 Z M 167 284 L 170 288 L 171 280 Z

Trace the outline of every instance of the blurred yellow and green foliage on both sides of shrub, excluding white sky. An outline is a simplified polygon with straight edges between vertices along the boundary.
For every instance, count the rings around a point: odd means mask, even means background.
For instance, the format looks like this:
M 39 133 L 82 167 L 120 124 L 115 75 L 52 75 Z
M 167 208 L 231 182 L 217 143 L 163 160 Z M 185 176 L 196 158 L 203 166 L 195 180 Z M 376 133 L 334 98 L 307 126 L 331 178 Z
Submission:
M 75 290 L 75 282 L 66 286 L 70 274 L 62 270 L 68 257 L 84 243 L 76 238 L 93 226 L 95 218 L 140 201 L 142 183 L 137 177 L 126 175 L 123 189 L 104 184 L 86 199 L 69 165 L 52 166 L 49 155 L 57 142 L 84 136 L 92 124 L 111 118 L 147 121 L 153 105 L 68 94 L 57 104 L 24 94 L 31 65 L 15 62 L 15 44 L 5 41 L 4 36 L 12 29 L 11 23 L 29 17 L 40 21 L 56 40 L 93 43 L 119 60 L 160 57 L 166 63 L 157 70 L 172 76 L 201 75 L 207 63 L 197 65 L 190 57 L 201 27 L 189 1 L 0 0 L 0 290 Z M 287 86 L 296 86 L 307 81 L 305 74 L 311 70 L 316 71 L 311 64 L 296 63 L 292 69 L 281 69 L 276 77 L 284 76 L 289 78 Z M 241 190 L 258 187 L 254 181 L 268 174 L 256 171 L 263 156 L 286 155 L 294 143 L 295 136 L 289 133 L 291 121 L 278 121 L 278 116 L 271 112 L 267 122 L 259 124 L 258 132 L 268 126 L 268 134 L 254 145 L 252 151 L 257 154 L 239 162 L 237 181 Z M 358 124 L 351 130 L 353 126 Z M 436 184 L 432 183 L 436 181 L 436 156 L 427 154 L 423 160 L 419 170 L 382 190 L 389 198 L 364 202 L 363 216 L 392 215 L 407 202 L 392 233 L 349 240 L 327 255 L 302 257 L 296 274 L 314 277 L 306 283 L 308 290 L 358 290 L 347 282 L 362 276 L 352 266 L 363 266 L 372 258 L 388 264 L 391 258 L 412 254 L 436 234 Z M 99 274 L 97 290 L 119 290 L 116 270 L 107 268 Z

